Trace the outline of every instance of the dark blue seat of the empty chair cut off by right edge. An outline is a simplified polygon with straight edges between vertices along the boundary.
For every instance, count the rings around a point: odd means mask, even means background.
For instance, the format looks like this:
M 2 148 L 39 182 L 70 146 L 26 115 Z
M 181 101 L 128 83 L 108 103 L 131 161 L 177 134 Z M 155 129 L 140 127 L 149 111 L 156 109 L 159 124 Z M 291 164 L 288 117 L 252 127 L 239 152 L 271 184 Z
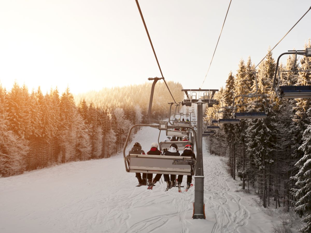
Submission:
M 281 98 L 311 98 L 311 86 L 280 86 Z

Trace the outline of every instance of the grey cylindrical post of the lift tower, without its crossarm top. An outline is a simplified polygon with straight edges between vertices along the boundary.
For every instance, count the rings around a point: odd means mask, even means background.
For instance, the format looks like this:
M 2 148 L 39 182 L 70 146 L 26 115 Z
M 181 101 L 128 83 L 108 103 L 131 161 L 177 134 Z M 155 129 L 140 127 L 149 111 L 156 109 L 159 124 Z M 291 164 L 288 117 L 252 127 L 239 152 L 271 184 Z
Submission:
M 197 167 L 194 176 L 194 214 L 193 219 L 204 218 L 204 173 L 202 155 L 203 102 L 197 102 Z

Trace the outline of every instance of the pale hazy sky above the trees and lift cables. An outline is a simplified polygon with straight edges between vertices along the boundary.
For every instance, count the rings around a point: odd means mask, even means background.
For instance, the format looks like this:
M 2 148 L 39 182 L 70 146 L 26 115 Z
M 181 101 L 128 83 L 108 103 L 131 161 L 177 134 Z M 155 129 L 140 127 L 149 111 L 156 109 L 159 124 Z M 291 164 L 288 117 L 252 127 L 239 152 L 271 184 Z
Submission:
M 140 0 L 166 80 L 199 88 L 230 0 Z M 258 63 L 309 9 L 309 0 L 232 0 L 202 88 L 225 85 L 230 70 L 251 56 Z M 311 11 L 276 47 L 273 57 L 302 49 Z M 135 0 L 0 1 L 0 81 L 72 93 L 140 84 L 160 77 Z

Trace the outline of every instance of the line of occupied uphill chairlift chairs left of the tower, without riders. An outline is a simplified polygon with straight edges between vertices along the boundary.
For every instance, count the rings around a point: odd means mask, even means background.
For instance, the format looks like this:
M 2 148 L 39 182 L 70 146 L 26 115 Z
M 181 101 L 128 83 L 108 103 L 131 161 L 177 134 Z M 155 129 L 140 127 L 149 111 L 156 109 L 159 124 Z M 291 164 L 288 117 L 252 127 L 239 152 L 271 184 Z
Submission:
M 191 120 L 188 121 L 180 121 L 177 119 L 177 116 L 180 117 L 186 116 L 190 118 L 190 115 L 183 114 L 179 112 L 180 105 L 184 105 L 184 103 L 179 103 L 175 107 L 173 121 L 169 119 L 169 121 L 156 121 L 151 117 L 151 107 L 152 100 L 154 94 L 154 88 L 156 82 L 163 78 L 149 78 L 149 80 L 153 80 L 153 84 L 151 87 L 151 95 L 148 109 L 149 119 L 154 122 L 153 125 L 146 124 L 137 124 L 131 127 L 128 137 L 125 141 L 125 145 L 123 147 L 123 157 L 125 163 L 125 169 L 127 172 L 135 172 L 135 173 L 155 173 L 155 174 L 172 174 L 172 175 L 194 175 L 194 171 L 196 168 L 196 161 L 192 157 L 187 156 L 164 156 L 164 155 L 138 155 L 138 154 L 129 154 L 126 155 L 126 147 L 128 145 L 128 141 L 130 139 L 131 131 L 135 127 L 153 127 L 158 128 L 159 136 L 158 136 L 158 144 L 160 146 L 160 150 L 168 149 L 170 144 L 175 143 L 178 146 L 178 150 L 183 150 L 184 147 L 188 144 L 192 145 L 192 147 L 196 146 L 197 149 L 197 135 L 193 126 L 191 125 Z M 171 116 L 171 108 L 174 103 L 170 104 L 169 116 Z M 178 131 L 174 130 L 175 128 L 185 128 L 186 131 Z M 189 141 L 168 141 L 168 142 L 159 142 L 161 131 L 166 132 L 167 136 L 177 136 L 183 137 L 187 136 Z M 198 149 L 197 149 L 198 151 Z

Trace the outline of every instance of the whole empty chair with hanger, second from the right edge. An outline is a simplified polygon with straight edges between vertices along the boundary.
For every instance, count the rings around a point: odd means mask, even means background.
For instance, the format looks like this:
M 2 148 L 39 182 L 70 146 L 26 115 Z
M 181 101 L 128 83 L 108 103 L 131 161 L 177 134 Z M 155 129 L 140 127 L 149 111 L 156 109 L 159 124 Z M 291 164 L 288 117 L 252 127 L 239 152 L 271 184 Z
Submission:
M 267 118 L 268 115 L 268 101 L 267 101 L 267 97 L 265 95 L 262 94 L 257 94 L 258 92 L 258 84 L 257 84 L 257 76 L 256 76 L 257 72 L 253 72 L 253 74 L 255 75 L 255 81 L 256 81 L 256 92 L 255 93 L 249 93 L 247 95 L 237 95 L 234 96 L 233 98 L 233 103 L 232 103 L 232 115 L 234 117 L 234 119 L 265 119 Z M 265 99 L 265 104 L 263 103 L 258 103 L 258 98 L 259 97 L 263 97 Z M 236 104 L 235 102 L 235 98 L 242 98 L 242 104 L 239 104 L 239 106 L 250 106 L 250 105 L 255 105 L 257 106 L 257 108 L 259 108 L 259 106 L 262 106 L 261 108 L 264 111 L 261 112 L 236 112 L 238 104 Z M 256 102 L 255 103 L 246 103 L 243 104 L 243 100 L 244 98 L 256 98 Z M 234 104 L 235 103 L 235 104 Z

